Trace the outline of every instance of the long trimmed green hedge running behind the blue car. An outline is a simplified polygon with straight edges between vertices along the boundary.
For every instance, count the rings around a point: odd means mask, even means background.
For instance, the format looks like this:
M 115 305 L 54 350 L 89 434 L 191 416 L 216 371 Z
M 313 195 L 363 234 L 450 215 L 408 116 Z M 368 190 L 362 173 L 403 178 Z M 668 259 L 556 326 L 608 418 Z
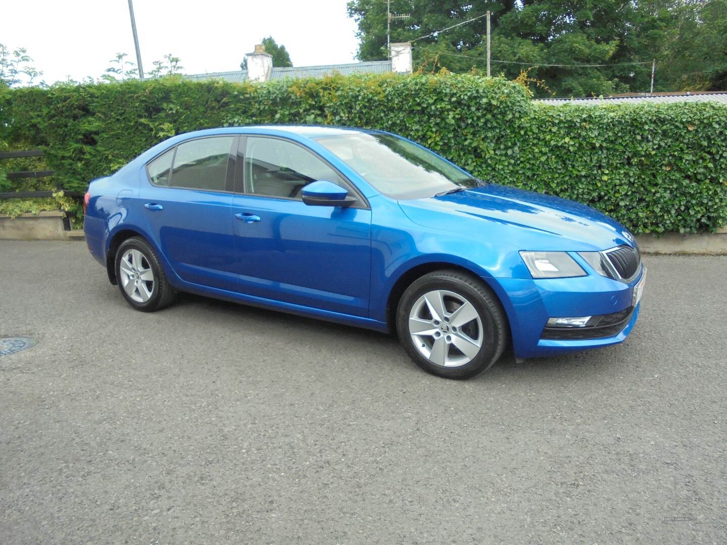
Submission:
M 66 189 L 85 189 L 173 134 L 327 123 L 402 134 L 475 176 L 585 202 L 633 231 L 727 224 L 723 105 L 545 106 L 502 78 L 386 74 L 12 89 L 0 116 L 0 139 L 47 147 Z

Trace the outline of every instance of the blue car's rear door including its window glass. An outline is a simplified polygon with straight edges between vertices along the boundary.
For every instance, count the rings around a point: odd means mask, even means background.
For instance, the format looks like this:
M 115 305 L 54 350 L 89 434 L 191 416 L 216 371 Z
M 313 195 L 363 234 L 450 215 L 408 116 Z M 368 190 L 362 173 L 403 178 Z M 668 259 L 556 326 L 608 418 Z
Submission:
M 238 136 L 177 144 L 147 165 L 148 227 L 182 280 L 237 290 L 232 197 Z

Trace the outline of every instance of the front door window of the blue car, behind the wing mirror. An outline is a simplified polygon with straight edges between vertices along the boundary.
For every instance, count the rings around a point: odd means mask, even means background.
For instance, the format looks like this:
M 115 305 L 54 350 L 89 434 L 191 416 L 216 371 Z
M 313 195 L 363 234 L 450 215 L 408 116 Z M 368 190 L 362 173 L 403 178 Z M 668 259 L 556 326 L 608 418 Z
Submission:
M 297 144 L 276 138 L 249 136 L 245 149 L 245 191 L 268 197 L 301 199 L 313 181 L 345 182 L 329 165 Z

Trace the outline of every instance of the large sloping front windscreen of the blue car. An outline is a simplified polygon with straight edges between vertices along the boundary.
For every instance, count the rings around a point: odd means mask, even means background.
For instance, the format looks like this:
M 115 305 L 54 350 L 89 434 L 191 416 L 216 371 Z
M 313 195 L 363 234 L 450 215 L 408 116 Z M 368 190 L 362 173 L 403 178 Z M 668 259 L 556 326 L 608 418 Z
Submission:
M 316 140 L 389 197 L 431 197 L 482 184 L 428 149 L 391 134 L 353 133 Z

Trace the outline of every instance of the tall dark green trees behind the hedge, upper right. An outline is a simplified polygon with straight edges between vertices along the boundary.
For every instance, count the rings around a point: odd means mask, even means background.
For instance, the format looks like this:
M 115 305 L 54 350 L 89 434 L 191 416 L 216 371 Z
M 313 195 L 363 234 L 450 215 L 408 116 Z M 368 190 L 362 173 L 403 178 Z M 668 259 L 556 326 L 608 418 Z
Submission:
M 493 74 L 515 78 L 529 75 L 542 81 L 538 94 L 549 88 L 558 96 L 589 96 L 623 91 L 648 91 L 651 60 L 664 44 L 680 51 L 696 49 L 687 39 L 675 38 L 680 17 L 689 9 L 704 11 L 727 0 L 392 0 L 391 12 L 409 13 L 391 23 L 391 41 L 413 41 L 414 65 L 422 70 L 446 67 L 454 72 L 483 70 L 486 65 L 486 18 L 438 32 L 491 11 Z M 688 7 L 688 9 L 686 8 Z M 358 58 L 379 60 L 386 52 L 386 2 L 351 0 L 348 13 L 358 24 Z M 711 12 L 710 12 L 711 13 Z M 712 19 L 716 16 L 712 15 Z M 694 33 L 713 44 L 727 36 L 716 22 L 692 17 Z M 685 33 L 685 30 L 681 31 Z M 707 38 L 711 36 L 711 38 Z M 671 40 L 669 42 L 669 39 Z M 685 34 L 686 38 L 686 34 Z M 706 55 L 713 59 L 715 55 Z M 521 63 L 521 64 L 515 64 Z M 659 59 L 657 63 L 660 65 Z M 716 60 L 709 60 L 717 70 Z M 546 66 L 551 65 L 551 66 Z M 555 66 L 553 66 L 555 65 Z M 607 65 L 607 66 L 582 66 Z M 718 80 L 719 75 L 712 75 Z M 661 74 L 660 74 L 661 75 Z M 665 76 L 666 74 L 664 74 Z M 710 80 L 710 81 L 712 81 Z M 674 84 L 661 77 L 659 89 Z

